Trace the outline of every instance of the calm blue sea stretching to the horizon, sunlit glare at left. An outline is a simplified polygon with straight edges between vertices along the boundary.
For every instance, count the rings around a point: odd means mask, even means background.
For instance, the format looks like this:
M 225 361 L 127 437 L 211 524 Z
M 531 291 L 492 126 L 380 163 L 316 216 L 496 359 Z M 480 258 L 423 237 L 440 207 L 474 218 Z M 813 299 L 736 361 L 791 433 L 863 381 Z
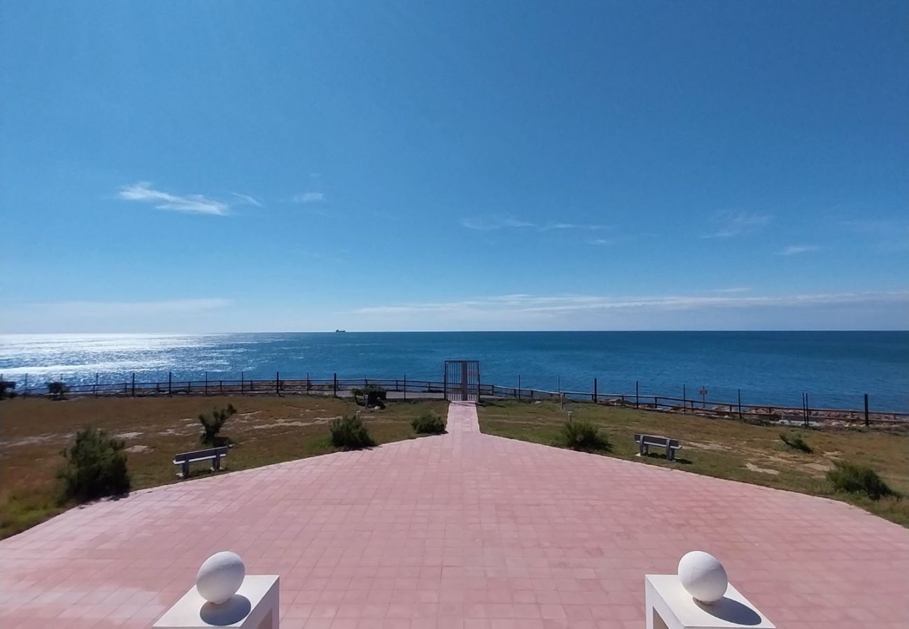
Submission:
M 744 404 L 909 410 L 909 332 L 445 332 L 13 334 L 0 374 L 22 383 L 275 377 L 441 380 L 445 359 L 481 361 L 484 383 L 689 396 Z

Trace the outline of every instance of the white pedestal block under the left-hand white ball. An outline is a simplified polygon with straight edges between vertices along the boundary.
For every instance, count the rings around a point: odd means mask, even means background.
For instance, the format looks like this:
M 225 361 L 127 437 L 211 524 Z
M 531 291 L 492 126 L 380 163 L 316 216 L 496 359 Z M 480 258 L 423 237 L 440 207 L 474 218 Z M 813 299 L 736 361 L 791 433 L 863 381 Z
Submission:
M 199 627 L 244 627 L 278 629 L 278 577 L 249 574 L 240 589 L 225 603 L 206 601 L 195 585 L 155 623 L 157 629 L 198 629 Z

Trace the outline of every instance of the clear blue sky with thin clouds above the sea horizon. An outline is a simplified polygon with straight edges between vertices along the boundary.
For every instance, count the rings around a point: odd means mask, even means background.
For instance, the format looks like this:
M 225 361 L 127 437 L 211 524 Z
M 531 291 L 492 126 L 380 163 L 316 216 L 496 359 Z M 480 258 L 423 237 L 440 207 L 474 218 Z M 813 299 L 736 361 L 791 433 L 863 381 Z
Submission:
M 907 7 L 5 2 L 0 329 L 905 329 Z

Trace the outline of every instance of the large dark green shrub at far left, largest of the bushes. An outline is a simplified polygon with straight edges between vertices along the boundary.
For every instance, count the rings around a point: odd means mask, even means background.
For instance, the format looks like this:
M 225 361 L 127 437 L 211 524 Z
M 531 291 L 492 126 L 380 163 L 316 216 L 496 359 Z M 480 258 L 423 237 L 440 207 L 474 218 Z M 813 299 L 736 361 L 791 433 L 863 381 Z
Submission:
M 105 431 L 85 428 L 75 434 L 75 445 L 60 454 L 66 464 L 57 473 L 64 501 L 80 502 L 105 495 L 125 494 L 130 478 L 126 469 L 124 443 Z

